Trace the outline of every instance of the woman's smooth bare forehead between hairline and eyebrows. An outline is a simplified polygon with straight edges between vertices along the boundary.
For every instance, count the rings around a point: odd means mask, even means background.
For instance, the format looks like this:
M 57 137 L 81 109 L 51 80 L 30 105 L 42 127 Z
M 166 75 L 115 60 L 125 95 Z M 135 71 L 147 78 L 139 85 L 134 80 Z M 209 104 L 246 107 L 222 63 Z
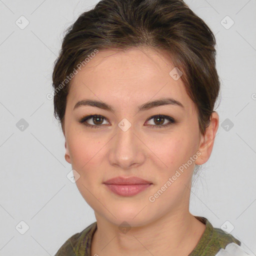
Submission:
M 191 108 L 182 80 L 169 74 L 173 68 L 169 56 L 147 47 L 99 50 L 72 78 L 68 101 L 93 98 L 127 106 L 169 96 Z

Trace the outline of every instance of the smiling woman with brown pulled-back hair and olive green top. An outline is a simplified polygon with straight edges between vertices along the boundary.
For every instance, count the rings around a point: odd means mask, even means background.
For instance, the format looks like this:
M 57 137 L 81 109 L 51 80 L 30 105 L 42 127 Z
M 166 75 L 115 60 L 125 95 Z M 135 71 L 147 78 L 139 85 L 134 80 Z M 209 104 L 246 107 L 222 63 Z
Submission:
M 102 0 L 70 26 L 54 113 L 96 222 L 55 255 L 247 255 L 189 212 L 192 174 L 218 128 L 214 46 L 181 0 Z

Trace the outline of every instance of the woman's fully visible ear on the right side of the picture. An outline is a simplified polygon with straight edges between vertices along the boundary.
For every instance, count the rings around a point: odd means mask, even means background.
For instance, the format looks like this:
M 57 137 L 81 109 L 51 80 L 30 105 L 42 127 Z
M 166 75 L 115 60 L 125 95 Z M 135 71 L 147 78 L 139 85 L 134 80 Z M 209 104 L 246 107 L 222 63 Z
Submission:
M 218 129 L 218 120 L 218 114 L 214 111 L 210 116 L 210 124 L 205 129 L 205 134 L 201 135 L 201 141 L 198 148 L 201 155 L 195 160 L 195 164 L 197 165 L 205 163 L 210 157 L 215 135 Z

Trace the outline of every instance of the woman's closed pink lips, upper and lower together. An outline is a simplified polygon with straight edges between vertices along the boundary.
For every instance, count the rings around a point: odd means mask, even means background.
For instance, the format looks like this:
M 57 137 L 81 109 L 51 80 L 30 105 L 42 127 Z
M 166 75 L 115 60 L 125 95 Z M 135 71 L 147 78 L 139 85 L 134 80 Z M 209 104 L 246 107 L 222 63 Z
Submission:
M 122 195 L 122 196 L 132 196 L 135 195 L 147 187 L 149 187 L 152 183 L 150 181 L 141 179 L 139 177 L 115 177 L 108 179 L 103 182 L 112 192 Z

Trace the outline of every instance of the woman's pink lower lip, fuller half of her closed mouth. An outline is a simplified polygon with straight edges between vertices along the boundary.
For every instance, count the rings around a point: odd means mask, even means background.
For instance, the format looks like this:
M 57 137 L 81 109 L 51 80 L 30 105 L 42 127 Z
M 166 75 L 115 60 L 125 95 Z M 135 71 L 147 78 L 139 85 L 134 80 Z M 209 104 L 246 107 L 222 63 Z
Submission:
M 112 192 L 122 196 L 132 196 L 145 190 L 151 184 L 117 185 L 105 184 Z

